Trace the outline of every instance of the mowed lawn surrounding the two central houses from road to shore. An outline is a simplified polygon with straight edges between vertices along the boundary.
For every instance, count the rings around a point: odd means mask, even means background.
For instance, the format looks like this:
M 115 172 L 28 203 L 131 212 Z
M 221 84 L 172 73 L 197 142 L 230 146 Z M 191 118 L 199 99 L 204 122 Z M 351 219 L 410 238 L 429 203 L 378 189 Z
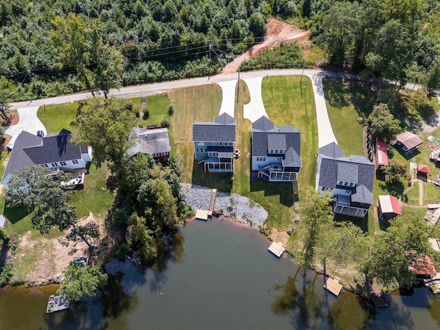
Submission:
M 303 91 L 299 82 L 300 77 L 294 76 L 264 78 L 262 89 L 270 120 L 276 126 L 293 125 L 301 132 L 304 164 L 298 182 L 301 199 L 307 187 L 314 186 L 314 155 L 318 138 L 311 82 L 303 78 Z M 217 85 L 191 87 L 169 92 L 168 96 L 175 109 L 172 118 L 173 142 L 182 162 L 182 181 L 246 195 L 269 212 L 269 227 L 285 230 L 292 223 L 294 214 L 292 184 L 250 180 L 251 123 L 243 118 L 243 104 L 250 101 L 246 85 L 240 83 L 238 102 L 235 104 L 236 147 L 241 151 L 241 157 L 234 162 L 233 180 L 230 173 L 205 173 L 203 166 L 195 164 L 192 148 L 192 122 L 212 122 L 219 115 L 221 89 Z

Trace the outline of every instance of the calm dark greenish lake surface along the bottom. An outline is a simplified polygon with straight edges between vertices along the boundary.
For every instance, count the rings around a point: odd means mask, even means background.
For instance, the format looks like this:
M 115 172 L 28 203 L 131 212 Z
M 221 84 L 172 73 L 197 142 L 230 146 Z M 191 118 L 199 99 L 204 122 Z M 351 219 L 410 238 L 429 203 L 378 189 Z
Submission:
M 112 261 L 104 294 L 45 314 L 57 286 L 0 289 L 0 329 L 437 329 L 440 295 L 415 289 L 372 310 L 357 296 L 322 289 L 267 252 L 256 230 L 228 221 L 192 221 L 154 270 Z

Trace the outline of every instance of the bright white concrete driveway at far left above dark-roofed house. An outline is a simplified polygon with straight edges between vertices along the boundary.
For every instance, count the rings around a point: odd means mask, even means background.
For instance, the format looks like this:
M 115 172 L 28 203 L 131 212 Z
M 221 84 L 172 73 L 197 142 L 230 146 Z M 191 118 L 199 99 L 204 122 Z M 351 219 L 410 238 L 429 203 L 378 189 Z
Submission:
M 14 145 L 17 136 L 19 136 L 22 131 L 27 131 L 35 135 L 36 131 L 43 131 L 45 135 L 47 134 L 45 126 L 36 116 L 36 111 L 38 109 L 39 107 L 17 109 L 17 112 L 19 113 L 19 122 L 14 126 L 6 126 L 5 130 L 5 134 L 12 136 L 9 145 Z

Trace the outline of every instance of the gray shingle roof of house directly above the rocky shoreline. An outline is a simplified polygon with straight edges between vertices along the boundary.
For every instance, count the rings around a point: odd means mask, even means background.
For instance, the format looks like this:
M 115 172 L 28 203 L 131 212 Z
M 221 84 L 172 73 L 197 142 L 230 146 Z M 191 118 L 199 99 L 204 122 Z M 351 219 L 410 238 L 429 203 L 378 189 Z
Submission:
M 235 142 L 234 118 L 222 113 L 214 122 L 195 122 L 192 125 L 192 141 Z

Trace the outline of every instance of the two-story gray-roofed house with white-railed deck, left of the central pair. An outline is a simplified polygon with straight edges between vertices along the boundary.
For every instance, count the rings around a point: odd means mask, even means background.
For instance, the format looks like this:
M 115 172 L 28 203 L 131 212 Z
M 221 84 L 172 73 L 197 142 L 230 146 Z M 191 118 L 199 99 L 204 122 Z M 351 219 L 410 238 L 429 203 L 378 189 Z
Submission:
M 234 171 L 235 119 L 222 113 L 214 122 L 192 125 L 195 160 L 208 172 Z

